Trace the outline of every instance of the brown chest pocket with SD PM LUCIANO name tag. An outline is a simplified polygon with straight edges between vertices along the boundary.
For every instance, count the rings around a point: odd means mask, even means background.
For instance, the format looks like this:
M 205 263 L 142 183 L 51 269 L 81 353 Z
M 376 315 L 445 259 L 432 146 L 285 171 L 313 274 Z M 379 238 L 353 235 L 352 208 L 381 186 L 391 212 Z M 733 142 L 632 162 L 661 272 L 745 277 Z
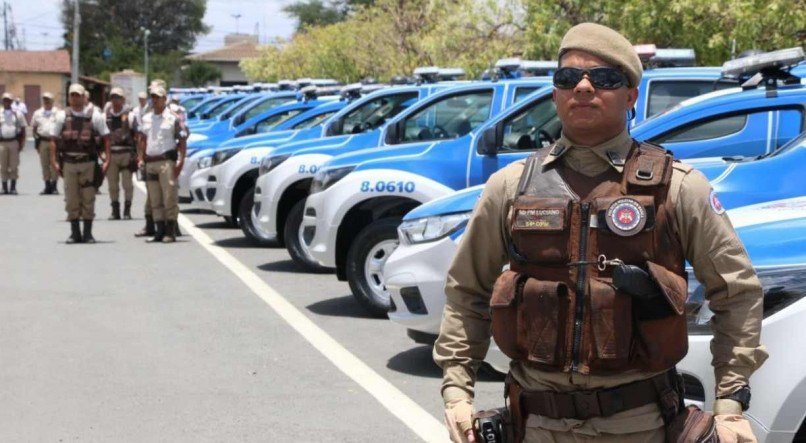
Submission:
M 570 205 L 564 198 L 519 197 L 512 207 L 512 258 L 525 263 L 567 263 Z

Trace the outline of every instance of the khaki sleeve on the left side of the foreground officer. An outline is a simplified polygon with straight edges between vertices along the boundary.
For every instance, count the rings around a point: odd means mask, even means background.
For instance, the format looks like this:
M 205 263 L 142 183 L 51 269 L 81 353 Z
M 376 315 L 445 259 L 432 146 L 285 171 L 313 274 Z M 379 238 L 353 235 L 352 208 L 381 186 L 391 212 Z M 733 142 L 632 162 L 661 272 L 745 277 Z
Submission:
M 511 165 L 490 177 L 448 271 L 445 310 L 434 345 L 446 402 L 473 398 L 476 371 L 490 345 L 490 294 L 507 263 L 511 177 L 517 181 L 522 169 L 522 164 Z

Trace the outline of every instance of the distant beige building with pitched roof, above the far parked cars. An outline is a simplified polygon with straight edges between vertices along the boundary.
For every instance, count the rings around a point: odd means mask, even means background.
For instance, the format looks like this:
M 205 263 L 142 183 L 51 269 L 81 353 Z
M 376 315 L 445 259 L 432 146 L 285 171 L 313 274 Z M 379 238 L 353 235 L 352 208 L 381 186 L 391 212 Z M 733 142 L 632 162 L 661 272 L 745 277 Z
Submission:
M 221 80 L 216 86 L 245 85 L 249 81 L 238 64 L 245 58 L 260 55 L 257 36 L 231 34 L 224 38 L 224 47 L 200 52 L 187 57 L 188 60 L 205 61 L 221 70 Z

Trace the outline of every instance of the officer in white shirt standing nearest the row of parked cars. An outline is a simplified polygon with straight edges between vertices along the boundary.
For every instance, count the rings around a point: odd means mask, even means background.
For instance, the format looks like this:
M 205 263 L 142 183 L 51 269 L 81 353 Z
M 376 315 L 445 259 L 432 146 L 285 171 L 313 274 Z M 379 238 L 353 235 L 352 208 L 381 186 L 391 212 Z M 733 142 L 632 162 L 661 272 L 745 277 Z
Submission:
M 145 164 L 148 200 L 156 225 L 150 242 L 176 241 L 179 196 L 176 178 L 185 161 L 187 134 L 179 116 L 167 107 L 165 87 L 150 88 L 152 111 L 143 116 L 138 166 Z

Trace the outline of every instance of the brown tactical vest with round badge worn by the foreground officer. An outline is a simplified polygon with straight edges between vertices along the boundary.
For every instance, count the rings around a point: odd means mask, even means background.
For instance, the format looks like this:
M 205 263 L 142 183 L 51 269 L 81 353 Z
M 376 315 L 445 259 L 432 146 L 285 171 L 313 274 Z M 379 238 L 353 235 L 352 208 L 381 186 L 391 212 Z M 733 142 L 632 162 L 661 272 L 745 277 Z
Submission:
M 580 197 L 531 156 L 509 218 L 510 268 L 490 302 L 492 332 L 513 360 L 544 371 L 606 375 L 671 368 L 688 351 L 683 247 L 668 200 L 671 154 L 635 143 L 624 173 L 587 180 Z M 570 177 L 570 175 L 569 175 Z M 648 271 L 673 314 L 647 318 L 612 285 L 611 260 Z

